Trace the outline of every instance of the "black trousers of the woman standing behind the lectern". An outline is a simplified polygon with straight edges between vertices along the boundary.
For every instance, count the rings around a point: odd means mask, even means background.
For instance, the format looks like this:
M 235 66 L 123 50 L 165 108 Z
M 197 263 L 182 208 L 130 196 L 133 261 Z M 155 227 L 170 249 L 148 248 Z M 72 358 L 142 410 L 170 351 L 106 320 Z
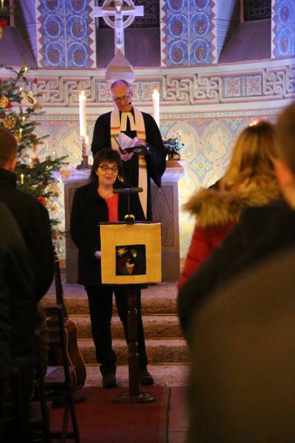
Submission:
M 116 370 L 116 356 L 112 347 L 111 318 L 113 314 L 113 293 L 120 320 L 123 323 L 126 342 L 128 343 L 128 291 L 124 286 L 111 287 L 106 284 L 85 287 L 89 311 L 91 316 L 91 329 L 97 362 L 100 363 L 102 374 Z M 137 345 L 138 362 L 140 370 L 147 365 L 146 346 L 144 343 L 144 328 L 142 325 L 142 311 L 140 289 L 137 293 Z

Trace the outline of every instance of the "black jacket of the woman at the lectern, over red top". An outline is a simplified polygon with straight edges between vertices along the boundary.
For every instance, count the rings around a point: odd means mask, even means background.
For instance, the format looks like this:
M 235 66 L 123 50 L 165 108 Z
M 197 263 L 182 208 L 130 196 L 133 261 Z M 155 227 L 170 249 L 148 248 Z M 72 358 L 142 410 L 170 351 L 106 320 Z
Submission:
M 114 188 L 124 188 L 126 184 L 117 181 Z M 127 214 L 127 196 L 119 194 L 118 219 L 124 221 Z M 131 214 L 135 220 L 144 220 L 144 214 L 137 194 L 131 194 Z M 108 206 L 99 196 L 93 183 L 78 188 L 73 199 L 70 215 L 70 235 L 79 249 L 78 283 L 85 286 L 101 284 L 100 261 L 94 256 L 100 251 L 99 222 L 108 221 Z

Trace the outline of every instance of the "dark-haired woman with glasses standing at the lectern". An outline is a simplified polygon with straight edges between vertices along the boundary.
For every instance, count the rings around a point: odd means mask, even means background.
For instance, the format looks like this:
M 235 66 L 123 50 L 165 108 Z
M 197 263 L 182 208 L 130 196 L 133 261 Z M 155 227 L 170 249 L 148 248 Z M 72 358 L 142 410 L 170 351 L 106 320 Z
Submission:
M 99 222 L 124 221 L 124 216 L 128 213 L 127 195 L 113 193 L 115 188 L 126 187 L 120 179 L 122 179 L 120 154 L 111 148 L 99 151 L 93 160 L 89 183 L 75 192 L 70 215 L 70 235 L 79 251 L 78 283 L 84 285 L 88 296 L 96 359 L 100 363 L 104 388 L 117 386 L 116 356 L 111 336 L 113 293 L 127 338 L 128 293 L 124 286 L 111 287 L 102 284 L 100 266 Z M 131 214 L 135 216 L 135 220 L 144 220 L 137 193 L 131 194 L 130 197 Z M 146 369 L 140 290 L 137 294 L 137 318 L 140 383 L 148 385 L 153 383 L 153 377 Z

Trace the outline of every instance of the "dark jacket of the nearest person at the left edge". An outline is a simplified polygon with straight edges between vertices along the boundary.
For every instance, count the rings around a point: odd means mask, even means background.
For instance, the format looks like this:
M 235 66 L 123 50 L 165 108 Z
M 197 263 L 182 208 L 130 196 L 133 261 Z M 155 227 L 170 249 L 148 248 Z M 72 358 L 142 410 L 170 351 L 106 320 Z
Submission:
M 32 260 L 12 213 L 0 203 L 0 378 L 32 355 L 37 307 Z

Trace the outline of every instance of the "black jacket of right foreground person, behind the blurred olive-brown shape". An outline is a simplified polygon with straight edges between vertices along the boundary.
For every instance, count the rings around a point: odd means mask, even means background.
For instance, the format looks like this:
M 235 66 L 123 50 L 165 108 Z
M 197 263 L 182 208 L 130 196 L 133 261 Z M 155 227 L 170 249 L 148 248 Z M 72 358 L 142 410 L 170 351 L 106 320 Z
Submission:
M 194 309 L 202 305 L 218 284 L 292 244 L 295 244 L 295 211 L 285 201 L 247 208 L 222 245 L 180 288 L 178 315 L 187 339 Z

